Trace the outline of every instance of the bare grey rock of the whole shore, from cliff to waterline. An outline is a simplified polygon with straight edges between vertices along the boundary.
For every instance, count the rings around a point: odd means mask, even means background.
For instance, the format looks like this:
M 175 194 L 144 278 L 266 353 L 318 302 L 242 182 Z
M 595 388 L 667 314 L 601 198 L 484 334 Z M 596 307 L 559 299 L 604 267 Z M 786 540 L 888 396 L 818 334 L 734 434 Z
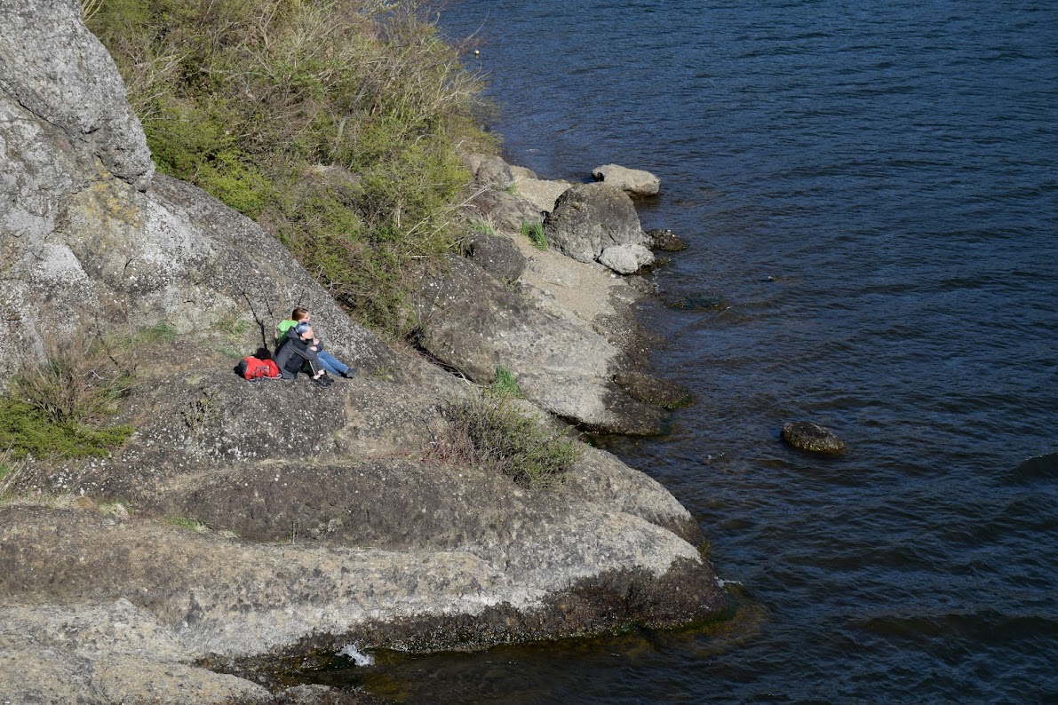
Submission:
M 136 359 L 124 447 L 0 485 L 0 700 L 366 702 L 273 671 L 350 644 L 482 648 L 725 613 L 697 523 L 614 456 L 585 445 L 539 489 L 430 456 L 444 405 L 500 366 L 527 409 L 587 430 L 658 432 L 659 404 L 686 396 L 641 369 L 643 292 L 623 275 L 653 255 L 622 188 L 468 155 L 468 219 L 495 235 L 423 276 L 418 350 L 390 346 L 257 224 L 153 173 L 79 17 L 74 0 L 0 8 L 0 366 L 87 324 L 175 337 Z M 519 233 L 532 219 L 554 247 Z M 294 305 L 360 376 L 231 373 Z

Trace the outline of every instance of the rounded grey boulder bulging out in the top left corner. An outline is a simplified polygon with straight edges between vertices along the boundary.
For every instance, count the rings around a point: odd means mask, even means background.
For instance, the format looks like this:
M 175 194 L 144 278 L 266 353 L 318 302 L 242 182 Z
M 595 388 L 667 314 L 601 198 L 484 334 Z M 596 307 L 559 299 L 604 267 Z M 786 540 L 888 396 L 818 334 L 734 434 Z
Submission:
M 20 236 L 54 222 L 56 189 L 113 175 L 143 190 L 154 171 L 114 62 L 80 12 L 75 0 L 0 8 L 0 183 L 14 206 L 0 222 Z

